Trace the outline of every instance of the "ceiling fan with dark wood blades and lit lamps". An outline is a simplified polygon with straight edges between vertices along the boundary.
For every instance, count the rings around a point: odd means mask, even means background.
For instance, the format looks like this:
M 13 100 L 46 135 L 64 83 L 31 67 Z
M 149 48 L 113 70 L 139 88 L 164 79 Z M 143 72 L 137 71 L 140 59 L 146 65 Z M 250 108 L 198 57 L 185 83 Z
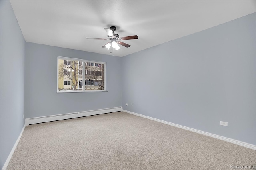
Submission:
M 116 30 L 115 26 L 111 26 L 110 29 L 108 28 L 104 28 L 108 34 L 108 38 L 88 38 L 87 39 L 92 39 L 92 40 L 110 40 L 110 42 L 108 42 L 107 44 L 105 44 L 102 47 L 106 47 L 109 48 L 112 46 L 113 48 L 115 48 L 115 50 L 119 50 L 120 47 L 118 46 L 118 44 L 125 46 L 125 47 L 130 47 L 129 44 L 126 44 L 124 42 L 121 42 L 122 40 L 132 40 L 132 39 L 138 39 L 137 35 L 134 36 L 126 36 L 126 37 L 121 37 L 119 38 L 118 34 L 115 34 L 114 31 Z

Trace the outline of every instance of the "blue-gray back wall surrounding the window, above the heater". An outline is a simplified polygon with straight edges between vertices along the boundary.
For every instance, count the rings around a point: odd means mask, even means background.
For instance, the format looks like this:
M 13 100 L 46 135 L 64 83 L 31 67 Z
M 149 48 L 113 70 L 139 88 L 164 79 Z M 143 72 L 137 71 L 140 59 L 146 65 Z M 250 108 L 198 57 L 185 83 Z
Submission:
M 108 92 L 57 93 L 57 57 L 107 63 Z M 26 43 L 25 117 L 48 116 L 121 106 L 120 57 Z

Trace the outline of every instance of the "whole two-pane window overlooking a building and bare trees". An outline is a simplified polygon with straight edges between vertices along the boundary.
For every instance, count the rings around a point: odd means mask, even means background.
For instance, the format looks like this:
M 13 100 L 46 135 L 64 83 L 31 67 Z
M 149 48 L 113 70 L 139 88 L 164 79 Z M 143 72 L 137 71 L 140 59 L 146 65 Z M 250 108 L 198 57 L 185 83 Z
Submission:
M 57 92 L 106 91 L 106 63 L 58 57 Z

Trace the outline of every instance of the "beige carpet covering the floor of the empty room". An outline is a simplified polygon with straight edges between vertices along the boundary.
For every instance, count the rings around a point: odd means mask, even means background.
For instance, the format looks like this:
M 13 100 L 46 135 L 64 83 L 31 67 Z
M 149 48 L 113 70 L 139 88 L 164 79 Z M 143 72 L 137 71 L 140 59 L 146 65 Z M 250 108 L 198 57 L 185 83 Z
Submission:
M 115 112 L 26 126 L 7 170 L 230 170 L 256 151 Z

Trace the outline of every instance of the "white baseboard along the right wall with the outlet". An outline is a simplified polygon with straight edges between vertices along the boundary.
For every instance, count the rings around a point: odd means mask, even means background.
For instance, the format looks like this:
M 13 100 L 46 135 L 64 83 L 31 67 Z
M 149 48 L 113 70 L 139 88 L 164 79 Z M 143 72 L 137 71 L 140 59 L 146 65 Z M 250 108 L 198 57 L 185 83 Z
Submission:
M 182 128 L 182 129 L 185 129 L 185 130 L 196 132 L 198 134 L 203 134 L 203 135 L 206 135 L 206 136 L 210 136 L 210 137 L 213 137 L 213 138 L 216 138 L 216 139 L 224 140 L 226 142 L 230 142 L 230 143 L 233 143 L 233 144 L 237 144 L 237 145 L 240 145 L 240 146 L 244 146 L 246 148 L 250 148 L 250 149 L 256 150 L 256 145 L 253 145 L 253 144 L 248 144 L 246 142 L 242 142 L 242 141 L 239 141 L 239 140 L 235 140 L 235 139 L 231 139 L 231 138 L 226 138 L 224 136 L 219 136 L 219 135 L 216 135 L 216 134 L 211 134 L 211 133 L 204 132 L 204 131 L 197 130 L 197 129 L 193 129 L 193 128 L 188 128 L 186 126 L 182 126 L 182 125 L 179 125 L 179 124 L 174 124 L 174 123 L 167 122 L 167 121 L 164 121 L 164 120 L 160 120 L 160 119 L 152 118 L 152 117 L 149 117 L 149 116 L 145 116 L 145 115 L 142 115 L 142 114 L 130 112 L 128 110 L 122 110 L 122 111 L 130 113 L 130 114 L 134 114 L 136 116 L 140 116 L 140 117 L 143 117 L 143 118 L 147 118 L 147 119 L 150 119 L 150 120 L 154 120 L 154 121 L 157 121 L 157 122 L 161 122 L 161 123 L 164 123 L 164 124 L 168 124 L 168 125 L 171 125 L 171 126 L 175 126 L 177 128 Z

